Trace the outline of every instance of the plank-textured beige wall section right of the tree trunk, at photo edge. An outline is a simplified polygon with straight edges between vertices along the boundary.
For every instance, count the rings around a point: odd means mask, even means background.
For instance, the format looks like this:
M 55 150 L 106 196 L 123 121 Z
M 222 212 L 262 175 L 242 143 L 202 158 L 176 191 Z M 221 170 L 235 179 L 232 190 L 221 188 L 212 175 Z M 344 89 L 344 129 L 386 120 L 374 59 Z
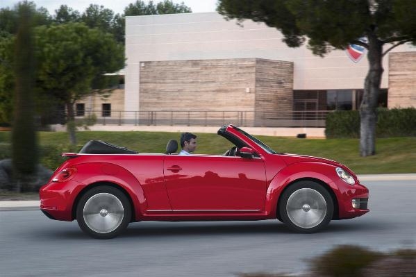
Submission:
M 416 52 L 390 53 L 388 108 L 416 107 Z

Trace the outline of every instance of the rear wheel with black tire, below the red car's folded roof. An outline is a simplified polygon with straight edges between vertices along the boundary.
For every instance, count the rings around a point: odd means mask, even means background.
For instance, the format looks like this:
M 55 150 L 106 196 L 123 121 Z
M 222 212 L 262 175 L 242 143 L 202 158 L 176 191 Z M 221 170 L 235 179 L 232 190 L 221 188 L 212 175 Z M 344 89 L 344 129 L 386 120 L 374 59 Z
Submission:
M 76 220 L 85 233 L 106 240 L 122 233 L 130 223 L 131 205 L 123 192 L 102 185 L 88 190 L 76 206 Z

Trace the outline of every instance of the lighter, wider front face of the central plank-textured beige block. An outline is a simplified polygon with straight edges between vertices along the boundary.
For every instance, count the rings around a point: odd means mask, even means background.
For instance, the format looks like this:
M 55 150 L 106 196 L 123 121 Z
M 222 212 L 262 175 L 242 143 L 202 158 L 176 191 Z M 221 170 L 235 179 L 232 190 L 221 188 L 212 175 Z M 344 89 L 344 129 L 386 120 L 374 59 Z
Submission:
M 255 59 L 141 62 L 140 111 L 253 110 Z

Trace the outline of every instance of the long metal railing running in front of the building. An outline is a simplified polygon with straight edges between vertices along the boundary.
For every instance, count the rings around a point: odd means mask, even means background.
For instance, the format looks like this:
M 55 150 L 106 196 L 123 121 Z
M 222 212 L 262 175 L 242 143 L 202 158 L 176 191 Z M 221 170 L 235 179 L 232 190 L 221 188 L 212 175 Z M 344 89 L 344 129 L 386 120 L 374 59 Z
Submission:
M 328 110 L 292 112 L 212 111 L 212 110 L 149 110 L 85 111 L 76 121 L 89 119 L 103 125 L 148 126 L 238 126 L 258 127 L 324 127 Z M 78 112 L 79 115 L 79 112 Z M 106 115 L 106 116 L 103 116 Z

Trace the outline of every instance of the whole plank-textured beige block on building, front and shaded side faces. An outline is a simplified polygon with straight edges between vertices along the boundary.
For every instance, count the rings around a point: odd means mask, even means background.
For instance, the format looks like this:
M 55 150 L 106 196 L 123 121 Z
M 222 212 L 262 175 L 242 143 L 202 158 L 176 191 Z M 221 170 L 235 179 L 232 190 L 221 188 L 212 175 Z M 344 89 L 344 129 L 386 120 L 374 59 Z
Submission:
M 141 112 L 179 110 L 203 118 L 210 111 L 210 119 L 238 118 L 235 124 L 242 124 L 253 121 L 254 112 L 292 110 L 292 88 L 292 62 L 242 58 L 140 64 Z

